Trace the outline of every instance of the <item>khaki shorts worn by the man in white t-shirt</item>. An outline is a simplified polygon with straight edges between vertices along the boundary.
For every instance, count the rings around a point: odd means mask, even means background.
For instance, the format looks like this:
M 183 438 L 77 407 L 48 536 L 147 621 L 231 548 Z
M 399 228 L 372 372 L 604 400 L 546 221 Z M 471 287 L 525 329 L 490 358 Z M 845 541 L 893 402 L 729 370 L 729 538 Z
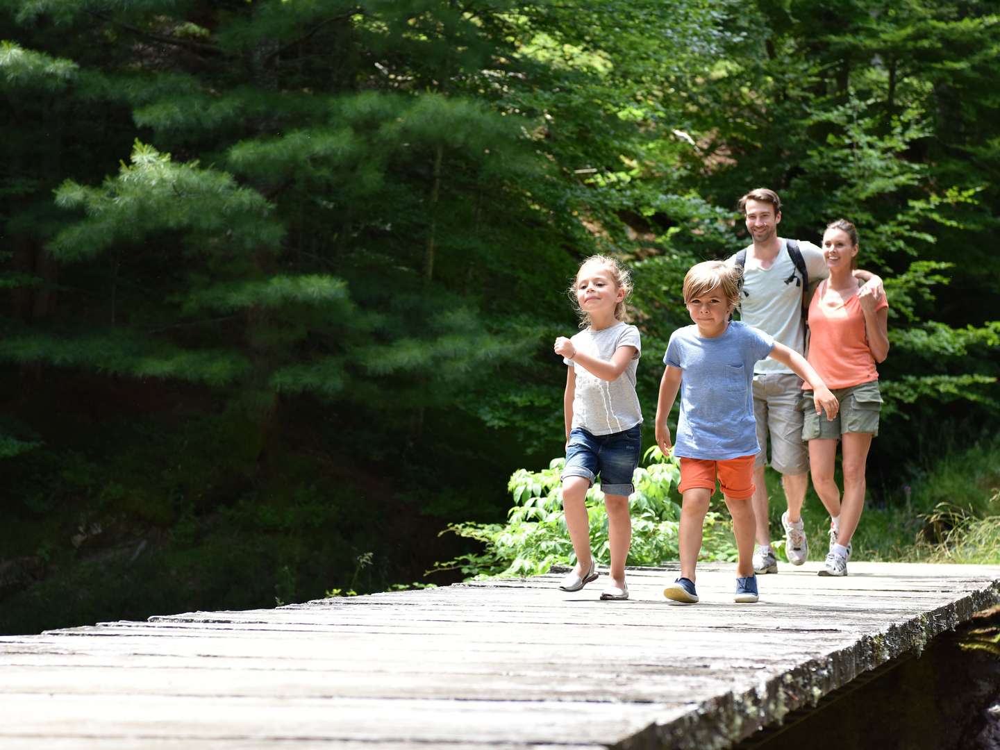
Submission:
M 757 420 L 760 453 L 756 466 L 765 466 L 768 444 L 771 466 L 781 474 L 809 471 L 809 447 L 802 442 L 802 380 L 778 373 L 753 376 L 753 415 Z

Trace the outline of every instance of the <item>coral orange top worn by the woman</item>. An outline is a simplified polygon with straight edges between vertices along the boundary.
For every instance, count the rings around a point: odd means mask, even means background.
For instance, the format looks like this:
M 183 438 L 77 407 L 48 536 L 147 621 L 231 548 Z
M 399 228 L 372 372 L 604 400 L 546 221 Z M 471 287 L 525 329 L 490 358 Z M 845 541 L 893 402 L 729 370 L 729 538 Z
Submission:
M 875 358 L 868 348 L 865 315 L 855 292 L 846 301 L 823 300 L 824 280 L 809 303 L 809 364 L 827 388 L 849 388 L 878 380 Z M 876 310 L 889 306 L 883 294 Z M 803 388 L 811 388 L 808 383 Z

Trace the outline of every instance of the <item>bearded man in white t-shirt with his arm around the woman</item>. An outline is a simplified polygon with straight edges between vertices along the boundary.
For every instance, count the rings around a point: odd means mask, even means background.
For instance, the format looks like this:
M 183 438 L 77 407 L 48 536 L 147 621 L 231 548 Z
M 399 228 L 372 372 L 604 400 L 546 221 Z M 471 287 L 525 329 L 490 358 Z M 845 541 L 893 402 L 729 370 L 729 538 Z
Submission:
M 793 240 L 789 247 L 789 241 L 778 236 L 781 199 L 773 190 L 750 191 L 740 198 L 739 208 L 753 240 L 753 244 L 729 259 L 744 267 L 740 317 L 743 322 L 771 334 L 775 341 L 805 355 L 803 301 L 808 291 L 806 286 L 814 286 L 829 273 L 823 251 L 806 241 Z M 877 276 L 867 271 L 855 271 L 855 275 L 875 286 L 876 297 L 881 294 L 882 281 Z M 777 573 L 764 483 L 769 443 L 771 465 L 781 474 L 787 501 L 787 510 L 781 516 L 785 555 L 793 565 L 801 565 L 809 554 L 801 516 L 809 481 L 809 449 L 802 441 L 802 381 L 782 363 L 762 359 L 754 367 L 753 401 L 760 444 L 753 475 L 756 489 L 752 503 L 758 545 L 753 567 L 757 573 Z M 831 519 L 834 534 L 838 521 Z

